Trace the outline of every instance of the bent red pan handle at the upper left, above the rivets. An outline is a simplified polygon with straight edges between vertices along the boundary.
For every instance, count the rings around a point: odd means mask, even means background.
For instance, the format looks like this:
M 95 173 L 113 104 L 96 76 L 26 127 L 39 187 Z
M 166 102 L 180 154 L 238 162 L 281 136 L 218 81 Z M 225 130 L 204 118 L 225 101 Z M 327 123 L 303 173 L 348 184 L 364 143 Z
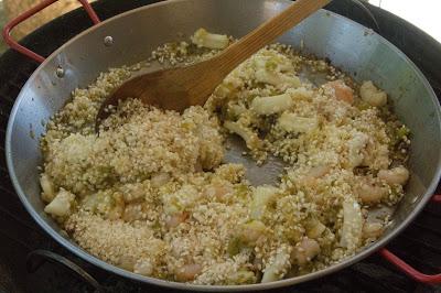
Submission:
M 31 18 L 32 15 L 34 15 L 35 13 L 37 13 L 39 11 L 45 9 L 46 7 L 57 2 L 58 0 L 44 0 L 41 3 L 39 3 L 37 6 L 31 8 L 30 10 L 21 13 L 19 17 L 17 17 L 15 19 L 11 20 L 10 22 L 8 22 L 2 31 L 3 34 L 3 39 L 4 42 L 13 50 L 20 52 L 23 55 L 26 55 L 28 57 L 39 62 L 39 63 L 43 63 L 44 62 L 44 57 L 36 54 L 35 52 L 32 52 L 29 48 L 25 48 L 24 46 L 20 45 L 17 41 L 14 41 L 11 37 L 11 31 L 13 28 L 15 28 L 19 23 L 25 21 L 26 19 Z M 92 21 L 94 22 L 94 24 L 98 24 L 99 18 L 98 15 L 95 13 L 94 9 L 92 8 L 90 3 L 87 2 L 87 0 L 77 0 L 78 2 L 82 3 L 82 6 L 84 7 L 84 9 L 86 10 L 87 14 L 89 14 L 89 18 L 92 19 Z

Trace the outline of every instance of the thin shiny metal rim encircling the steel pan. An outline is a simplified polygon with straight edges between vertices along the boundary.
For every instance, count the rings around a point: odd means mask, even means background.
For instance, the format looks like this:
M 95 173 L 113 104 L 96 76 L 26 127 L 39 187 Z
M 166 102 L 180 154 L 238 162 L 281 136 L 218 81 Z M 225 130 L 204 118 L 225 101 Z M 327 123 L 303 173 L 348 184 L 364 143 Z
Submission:
M 45 67 L 56 55 L 58 55 L 61 52 L 63 52 L 67 46 L 69 46 L 72 43 L 75 43 L 78 39 L 83 37 L 84 35 L 90 33 L 92 31 L 95 31 L 99 29 L 103 25 L 106 25 L 108 22 L 115 21 L 119 18 L 126 18 L 130 15 L 131 13 L 138 13 L 141 10 L 147 10 L 151 9 L 154 7 L 159 6 L 171 6 L 176 2 L 185 2 L 185 1 L 195 1 L 195 0 L 169 0 L 169 1 L 162 1 L 162 2 L 157 2 L 153 4 L 144 6 L 141 8 L 137 8 L 127 12 L 123 12 L 121 14 L 115 15 L 104 22 L 101 22 L 98 25 L 94 25 L 80 34 L 74 36 L 69 41 L 67 41 L 65 44 L 63 44 L 61 47 L 58 47 L 56 51 L 54 51 L 40 66 L 35 72 L 31 75 L 31 77 L 28 79 L 25 85 L 23 86 L 22 90 L 20 91 L 18 98 L 15 99 L 14 106 L 11 110 L 9 121 L 8 121 L 8 128 L 7 128 L 7 133 L 6 133 L 6 156 L 7 156 L 7 165 L 8 165 L 8 171 L 12 181 L 12 184 L 14 186 L 14 189 L 17 194 L 19 195 L 20 200 L 24 205 L 25 209 L 28 213 L 32 216 L 32 218 L 53 238 L 55 239 L 60 245 L 62 245 L 64 248 L 66 248 L 68 251 L 74 253 L 75 256 L 106 270 L 112 273 L 116 273 L 118 275 L 121 275 L 123 278 L 128 278 L 131 280 L 140 281 L 143 283 L 150 283 L 153 285 L 159 285 L 159 286 L 165 286 L 165 287 L 171 287 L 171 289 L 180 289 L 180 290 L 191 290 L 191 291 L 212 291 L 212 292 L 226 292 L 226 291 L 260 291 L 260 290 L 269 290 L 269 289 L 276 289 L 276 287 L 281 287 L 281 286 L 289 286 L 293 285 L 297 283 L 310 281 L 320 276 L 327 275 L 330 273 L 340 271 L 344 268 L 347 268 L 351 264 L 354 264 L 364 258 L 368 257 L 369 254 L 376 252 L 378 249 L 381 247 L 386 246 L 390 240 L 392 240 L 398 234 L 400 234 L 417 216 L 418 214 L 423 209 L 426 204 L 430 200 L 432 193 L 435 191 L 439 180 L 441 177 L 441 155 L 438 162 L 438 166 L 435 170 L 435 175 L 432 178 L 430 185 L 427 187 L 427 191 L 423 195 L 421 195 L 421 199 L 418 203 L 418 205 L 410 211 L 410 214 L 406 217 L 404 221 L 401 221 L 394 230 L 389 232 L 389 235 L 386 235 L 383 239 L 379 239 L 378 241 L 374 242 L 373 245 L 364 248 L 362 251 L 357 252 L 351 258 L 347 258 L 336 264 L 333 264 L 331 267 L 327 267 L 323 270 L 320 270 L 318 272 L 309 273 L 305 275 L 300 275 L 300 276 L 294 276 L 290 279 L 283 279 L 280 281 L 271 282 L 271 283 L 258 283 L 258 284 L 246 284 L 246 285 L 194 285 L 194 284 L 186 284 L 186 283 L 179 283 L 179 282 L 172 282 L 172 281 L 165 281 L 161 279 L 155 279 L 155 278 L 149 278 L 149 276 L 143 276 L 140 274 L 136 274 L 126 270 L 122 270 L 114 264 L 110 264 L 108 262 L 105 262 L 87 251 L 85 251 L 83 248 L 74 245 L 68 239 L 64 238 L 60 232 L 57 232 L 54 228 L 52 228 L 40 215 L 39 213 L 33 208 L 31 203 L 28 200 L 23 189 L 21 188 L 18 177 L 15 175 L 15 170 L 13 166 L 12 162 L 12 156 L 11 156 L 11 139 L 12 139 L 12 128 L 13 128 L 13 119 L 19 110 L 21 101 L 25 98 L 22 93 L 24 89 L 32 84 L 33 79 L 39 75 L 40 70 Z M 205 1 L 205 0 L 196 0 L 196 1 Z M 271 2 L 277 2 L 277 3 L 290 3 L 291 1 L 289 0 L 271 0 Z M 364 25 L 352 21 L 345 17 L 342 17 L 337 13 L 327 11 L 327 10 L 321 10 L 320 13 L 330 13 L 332 17 L 337 18 L 337 19 L 344 19 L 345 21 L 352 22 L 353 24 L 359 26 L 359 28 L 365 28 Z M 408 62 L 408 64 L 412 67 L 415 73 L 417 74 L 418 78 L 420 78 L 420 82 L 424 85 L 424 87 L 428 89 L 430 94 L 430 98 L 434 105 L 437 105 L 435 116 L 438 120 L 438 124 L 441 126 L 441 108 L 440 108 L 440 102 L 433 91 L 433 88 L 430 86 L 429 82 L 427 80 L 426 76 L 422 74 L 422 72 L 413 64 L 413 62 L 406 56 L 398 47 L 396 47 L 394 44 L 391 44 L 389 41 L 387 41 L 385 37 L 381 35 L 375 33 L 377 37 L 379 37 L 380 42 L 386 43 L 391 50 L 395 51 L 397 55 L 399 55 L 404 61 Z M 441 128 L 440 128 L 441 132 Z M 441 150 L 440 150 L 441 153 Z

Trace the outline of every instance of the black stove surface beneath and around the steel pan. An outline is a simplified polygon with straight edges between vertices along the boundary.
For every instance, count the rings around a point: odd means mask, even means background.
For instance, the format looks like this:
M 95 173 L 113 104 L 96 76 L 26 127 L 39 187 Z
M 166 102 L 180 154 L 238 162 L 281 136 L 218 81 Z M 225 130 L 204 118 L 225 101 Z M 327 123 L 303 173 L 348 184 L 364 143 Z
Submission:
M 95 3 L 101 19 L 149 4 L 151 0 L 103 0 Z M 334 1 L 327 9 L 372 26 L 359 7 L 348 0 Z M 426 74 L 441 97 L 441 45 L 415 26 L 370 7 L 380 33 L 401 48 Z M 23 40 L 23 44 L 49 55 L 68 39 L 90 25 L 83 11 L 62 17 Z M 37 64 L 15 52 L 0 57 L 0 149 L 4 152 L 8 116 Z M 435 145 L 438 146 L 438 145 Z M 418 270 L 440 272 L 441 206 L 430 203 L 423 213 L 388 248 Z M 108 292 L 172 292 L 140 284 L 86 263 L 50 238 L 24 210 L 9 180 L 4 155 L 0 156 L 0 292 L 93 292 L 93 289 L 60 264 L 45 263 L 36 272 L 26 271 L 26 256 L 36 249 L 60 253 L 90 273 Z M 417 283 L 378 254 L 343 271 L 273 292 L 441 292 L 441 287 Z

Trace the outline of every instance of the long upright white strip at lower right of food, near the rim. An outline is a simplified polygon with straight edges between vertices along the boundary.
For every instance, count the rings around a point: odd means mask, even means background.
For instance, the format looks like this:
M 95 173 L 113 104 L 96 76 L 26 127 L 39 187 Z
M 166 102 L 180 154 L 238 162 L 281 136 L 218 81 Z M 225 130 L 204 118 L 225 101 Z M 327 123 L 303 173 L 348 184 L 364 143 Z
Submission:
M 359 246 L 362 232 L 362 208 L 354 198 L 347 198 L 343 202 L 343 227 L 340 245 L 354 251 Z

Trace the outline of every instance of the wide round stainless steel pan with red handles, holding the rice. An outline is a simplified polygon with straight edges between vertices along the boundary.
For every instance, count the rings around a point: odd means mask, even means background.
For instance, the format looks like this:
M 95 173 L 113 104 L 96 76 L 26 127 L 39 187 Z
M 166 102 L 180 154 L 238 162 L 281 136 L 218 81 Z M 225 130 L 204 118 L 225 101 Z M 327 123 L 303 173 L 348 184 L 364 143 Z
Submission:
M 56 0 L 46 0 L 44 6 Z M 83 4 L 87 4 L 82 0 Z M 57 224 L 43 211 L 40 199 L 39 170 L 42 162 L 39 138 L 47 121 L 69 99 L 76 87 L 90 84 L 100 72 L 112 66 L 146 59 L 158 45 L 178 40 L 178 33 L 190 35 L 197 28 L 240 37 L 275 15 L 290 1 L 286 0 L 175 0 L 139 8 L 77 35 L 55 51 L 22 88 L 12 109 L 6 155 L 11 180 L 32 217 L 56 241 L 83 259 L 110 272 L 162 286 L 204 291 L 248 291 L 287 286 L 316 279 L 355 263 L 383 248 L 418 215 L 432 197 L 441 170 L 441 112 L 438 99 L 421 72 L 397 47 L 351 20 L 321 10 L 279 42 L 300 47 L 353 75 L 356 80 L 372 79 L 394 100 L 399 118 L 412 130 L 410 154 L 411 178 L 407 194 L 392 215 L 384 236 L 356 256 L 324 270 L 273 283 L 240 286 L 196 286 L 135 274 L 108 264 L 79 248 Z M 89 7 L 88 12 L 93 15 Z M 34 10 L 33 12 L 35 12 Z M 23 18 L 6 28 L 6 34 Z M 98 22 L 97 19 L 95 19 Z M 17 48 L 17 44 L 9 40 Z M 23 47 L 19 48 L 29 55 Z M 31 134 L 32 133 L 32 134 Z M 387 250 L 380 252 L 397 262 Z M 416 273 L 416 272 L 409 272 Z M 420 281 L 440 282 L 441 275 L 413 275 Z

